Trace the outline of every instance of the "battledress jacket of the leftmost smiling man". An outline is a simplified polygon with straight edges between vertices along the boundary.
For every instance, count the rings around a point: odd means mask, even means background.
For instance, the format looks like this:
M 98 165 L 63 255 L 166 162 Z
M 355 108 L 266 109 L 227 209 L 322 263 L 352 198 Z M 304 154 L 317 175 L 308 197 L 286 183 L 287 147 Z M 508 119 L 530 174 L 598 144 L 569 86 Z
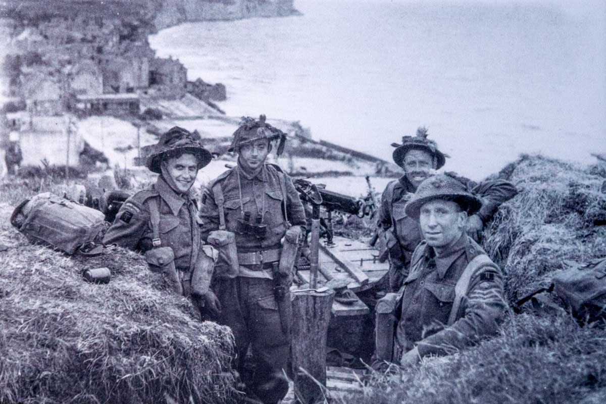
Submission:
M 141 253 L 151 250 L 154 238 L 149 210 L 151 198 L 158 200 L 161 246 L 173 249 L 176 269 L 187 273 L 195 265 L 201 246 L 196 221 L 198 207 L 191 193 L 175 193 L 162 177 L 158 177 L 150 189 L 139 191 L 124 202 L 103 242 Z

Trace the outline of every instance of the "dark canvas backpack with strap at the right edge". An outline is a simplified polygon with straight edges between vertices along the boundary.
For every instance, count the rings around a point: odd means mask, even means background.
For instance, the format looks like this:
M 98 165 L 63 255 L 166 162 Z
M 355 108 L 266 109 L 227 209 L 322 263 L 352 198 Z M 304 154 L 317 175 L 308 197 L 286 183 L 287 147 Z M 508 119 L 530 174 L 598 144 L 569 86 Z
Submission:
M 550 285 L 518 300 L 514 310 L 539 293 L 553 292 L 579 322 L 606 319 L 606 258 L 589 263 L 565 261 L 568 267 L 553 276 Z

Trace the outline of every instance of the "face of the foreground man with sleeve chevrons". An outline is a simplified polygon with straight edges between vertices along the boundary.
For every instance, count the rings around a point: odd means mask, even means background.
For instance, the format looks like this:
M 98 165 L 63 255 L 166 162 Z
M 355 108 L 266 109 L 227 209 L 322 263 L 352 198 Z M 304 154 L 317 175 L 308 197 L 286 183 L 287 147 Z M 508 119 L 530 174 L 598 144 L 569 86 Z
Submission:
M 456 202 L 434 199 L 421 207 L 419 222 L 421 231 L 431 247 L 453 245 L 465 231 L 467 213 Z

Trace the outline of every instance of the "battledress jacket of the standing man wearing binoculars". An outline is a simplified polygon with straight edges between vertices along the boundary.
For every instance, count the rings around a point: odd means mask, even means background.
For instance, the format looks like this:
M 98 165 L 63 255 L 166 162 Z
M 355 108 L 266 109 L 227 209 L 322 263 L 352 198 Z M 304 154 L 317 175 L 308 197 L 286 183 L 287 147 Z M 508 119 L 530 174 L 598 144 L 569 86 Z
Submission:
M 219 228 L 219 207 L 212 191 L 216 184 L 221 186 L 223 192 L 226 230 L 236 234 L 238 253 L 281 248 L 281 239 L 289 225 L 301 226 L 305 234 L 305 211 L 290 177 L 279 172 L 273 165 L 264 164 L 253 177 L 248 177 L 244 170 L 235 167 L 208 184 L 199 211 L 202 239 L 207 239 L 210 231 Z M 264 238 L 259 239 L 253 234 L 238 234 L 236 226 L 244 212 L 250 212 L 251 222 L 255 221 L 258 214 L 262 215 L 262 224 L 267 225 Z M 219 256 L 215 273 L 221 274 L 226 266 L 227 263 Z M 273 279 L 271 270 L 247 271 L 242 266 L 239 276 Z

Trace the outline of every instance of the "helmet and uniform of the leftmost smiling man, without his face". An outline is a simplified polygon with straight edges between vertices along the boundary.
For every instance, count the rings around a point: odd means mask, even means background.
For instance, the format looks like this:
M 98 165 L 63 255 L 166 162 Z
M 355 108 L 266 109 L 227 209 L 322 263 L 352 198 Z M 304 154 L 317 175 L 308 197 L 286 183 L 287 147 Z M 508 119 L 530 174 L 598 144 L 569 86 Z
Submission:
M 189 296 L 190 292 L 201 296 L 208 291 L 212 268 L 210 263 L 204 262 L 210 257 L 202 251 L 197 222 L 198 206 L 191 191 L 178 192 L 168 183 L 166 177 L 170 174 L 161 168 L 165 153 L 174 153 L 168 156 L 193 154 L 198 169 L 207 165 L 211 159 L 210 153 L 202 147 L 199 135 L 179 127 L 168 130 L 145 162 L 147 168 L 160 174 L 156 183 L 124 202 L 112 226 L 105 233 L 104 243 L 115 243 L 141 253 L 159 247 L 170 248 L 170 256 L 174 256 L 175 275 L 181 283 L 179 291 L 184 296 Z M 156 229 L 155 212 L 158 213 Z M 149 259 L 148 262 L 151 265 Z M 204 273 L 199 273 L 196 285 L 192 285 L 192 274 L 196 268 Z

